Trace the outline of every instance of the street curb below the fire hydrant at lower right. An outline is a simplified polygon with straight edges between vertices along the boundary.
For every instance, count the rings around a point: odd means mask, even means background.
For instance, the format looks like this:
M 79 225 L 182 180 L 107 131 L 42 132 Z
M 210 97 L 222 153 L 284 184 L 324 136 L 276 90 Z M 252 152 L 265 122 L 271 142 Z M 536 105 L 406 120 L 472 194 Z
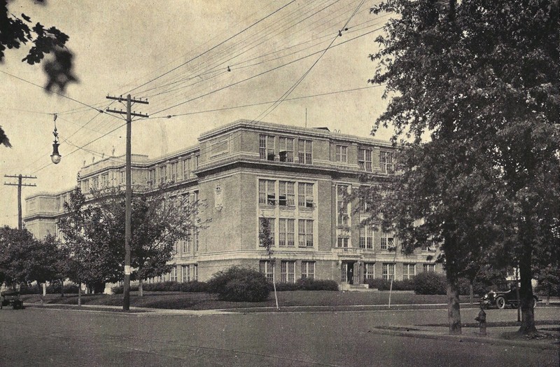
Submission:
M 501 338 L 491 338 L 483 336 L 471 336 L 471 335 L 449 335 L 449 334 L 439 334 L 430 331 L 418 331 L 414 326 L 410 326 L 410 331 L 398 331 L 391 330 L 387 328 L 372 328 L 370 333 L 376 334 L 389 334 L 396 336 L 405 336 L 407 338 L 425 338 L 434 340 L 451 340 L 456 342 L 478 342 L 481 344 L 488 345 L 507 345 L 510 347 L 524 347 L 524 348 L 536 348 L 536 349 L 558 349 L 557 342 L 553 343 L 541 343 L 541 342 L 525 342 L 521 340 L 508 340 Z

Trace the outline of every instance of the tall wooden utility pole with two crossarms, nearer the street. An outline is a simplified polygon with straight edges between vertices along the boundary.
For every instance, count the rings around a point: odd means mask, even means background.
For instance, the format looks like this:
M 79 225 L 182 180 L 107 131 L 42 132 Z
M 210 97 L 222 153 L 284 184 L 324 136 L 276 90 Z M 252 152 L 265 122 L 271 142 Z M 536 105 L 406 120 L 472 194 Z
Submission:
M 125 167 L 125 180 L 126 180 L 126 198 L 125 198 L 125 281 L 123 282 L 123 311 L 130 310 L 130 242 L 132 242 L 132 178 L 131 178 L 131 161 L 132 161 L 132 144 L 130 135 L 132 133 L 132 116 L 134 117 L 145 117 L 142 113 L 131 112 L 133 103 L 148 104 L 148 100 L 143 101 L 142 99 L 132 99 L 130 95 L 127 95 L 126 99 L 121 97 L 110 97 L 107 99 L 113 99 L 118 102 L 127 102 L 126 111 L 117 111 L 113 109 L 107 109 L 107 112 L 126 114 L 127 116 L 127 152 L 126 152 L 126 167 Z

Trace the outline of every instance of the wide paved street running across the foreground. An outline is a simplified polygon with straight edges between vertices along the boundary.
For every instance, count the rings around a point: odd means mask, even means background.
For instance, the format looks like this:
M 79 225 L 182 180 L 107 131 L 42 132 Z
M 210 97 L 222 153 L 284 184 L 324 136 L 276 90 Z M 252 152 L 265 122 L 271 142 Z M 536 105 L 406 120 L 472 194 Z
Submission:
M 557 319 L 556 307 L 535 310 Z M 477 310 L 461 310 L 472 320 Z M 489 310 L 492 321 L 514 310 Z M 374 326 L 444 323 L 446 310 L 177 315 L 0 311 L 0 366 L 558 366 L 558 351 L 410 338 Z

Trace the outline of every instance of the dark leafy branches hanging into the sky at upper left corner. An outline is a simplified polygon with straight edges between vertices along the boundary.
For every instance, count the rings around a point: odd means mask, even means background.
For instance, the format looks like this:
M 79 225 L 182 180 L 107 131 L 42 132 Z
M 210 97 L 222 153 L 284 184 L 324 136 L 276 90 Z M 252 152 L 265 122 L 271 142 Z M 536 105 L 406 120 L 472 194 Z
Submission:
M 34 2 L 45 4 L 45 0 Z M 45 90 L 48 92 L 58 90 L 64 93 L 68 83 L 78 81 L 72 71 L 73 54 L 66 48 L 68 40 L 69 36 L 56 27 L 45 27 L 41 23 L 31 25 L 31 18 L 25 14 L 14 15 L 8 10 L 8 0 L 0 0 L 0 62 L 5 57 L 6 49 L 20 48 L 27 43 L 33 44 L 22 60 L 28 64 L 43 62 L 45 54 L 52 53 L 53 57 L 43 63 L 47 76 Z M 1 129 L 0 143 L 10 147 L 9 140 Z

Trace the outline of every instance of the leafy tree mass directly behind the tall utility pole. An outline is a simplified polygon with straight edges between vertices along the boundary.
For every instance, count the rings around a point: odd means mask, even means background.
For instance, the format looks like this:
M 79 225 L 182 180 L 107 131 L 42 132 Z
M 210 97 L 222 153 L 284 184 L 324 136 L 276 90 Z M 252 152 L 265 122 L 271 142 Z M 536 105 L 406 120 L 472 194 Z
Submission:
M 125 195 L 120 188 L 90 195 L 86 199 L 76 188 L 59 220 L 74 261 L 73 278 L 90 285 L 118 282 L 124 277 Z M 176 243 L 203 228 L 198 206 L 188 195 L 167 198 L 163 189 L 134 194 L 131 264 L 141 294 L 144 280 L 169 272 Z

